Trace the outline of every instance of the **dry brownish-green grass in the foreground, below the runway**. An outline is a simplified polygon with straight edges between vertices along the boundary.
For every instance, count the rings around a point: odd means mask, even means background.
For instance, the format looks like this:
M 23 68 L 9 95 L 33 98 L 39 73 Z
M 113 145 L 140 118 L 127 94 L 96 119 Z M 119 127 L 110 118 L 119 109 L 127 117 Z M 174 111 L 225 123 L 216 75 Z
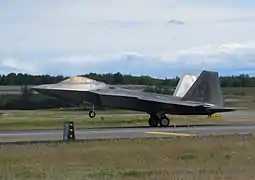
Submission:
M 0 146 L 1 179 L 254 179 L 255 137 Z

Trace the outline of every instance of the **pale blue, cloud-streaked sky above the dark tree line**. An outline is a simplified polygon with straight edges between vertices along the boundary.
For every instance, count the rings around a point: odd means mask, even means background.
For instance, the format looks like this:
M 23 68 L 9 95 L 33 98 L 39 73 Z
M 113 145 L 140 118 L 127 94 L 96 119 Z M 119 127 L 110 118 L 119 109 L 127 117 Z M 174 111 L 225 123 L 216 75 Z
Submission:
M 0 74 L 255 75 L 254 0 L 0 1 Z

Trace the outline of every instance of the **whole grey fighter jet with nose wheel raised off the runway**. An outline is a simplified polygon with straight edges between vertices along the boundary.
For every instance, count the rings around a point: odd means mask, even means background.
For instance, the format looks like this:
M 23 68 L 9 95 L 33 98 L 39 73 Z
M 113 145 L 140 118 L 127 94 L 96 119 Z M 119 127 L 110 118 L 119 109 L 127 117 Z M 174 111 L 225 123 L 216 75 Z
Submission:
M 187 82 L 187 81 L 186 81 Z M 179 82 L 183 86 L 182 82 Z M 168 115 L 207 115 L 235 111 L 223 106 L 218 72 L 202 71 L 174 95 L 141 92 L 120 88 L 85 77 L 72 77 L 56 84 L 32 87 L 33 90 L 71 102 L 89 102 L 89 116 L 96 116 L 95 106 L 126 109 L 149 114 L 151 127 L 167 127 Z M 184 93 L 183 93 L 184 92 Z

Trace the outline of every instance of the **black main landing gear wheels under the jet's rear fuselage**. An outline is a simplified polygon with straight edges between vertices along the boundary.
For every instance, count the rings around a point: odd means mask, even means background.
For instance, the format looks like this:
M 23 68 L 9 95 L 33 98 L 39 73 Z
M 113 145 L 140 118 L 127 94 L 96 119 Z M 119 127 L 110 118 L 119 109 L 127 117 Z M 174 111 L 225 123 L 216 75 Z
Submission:
M 148 124 L 151 127 L 157 127 L 158 125 L 161 127 L 168 127 L 170 120 L 164 113 L 150 114 Z

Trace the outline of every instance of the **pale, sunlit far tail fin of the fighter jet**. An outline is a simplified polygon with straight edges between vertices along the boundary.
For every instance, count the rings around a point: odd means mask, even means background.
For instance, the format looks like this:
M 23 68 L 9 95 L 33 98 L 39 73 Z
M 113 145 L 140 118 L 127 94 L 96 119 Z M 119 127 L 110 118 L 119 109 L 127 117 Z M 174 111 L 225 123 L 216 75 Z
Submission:
M 174 91 L 174 96 L 183 97 L 192 84 L 196 81 L 197 77 L 189 74 L 184 74 L 181 76 L 176 89 Z

